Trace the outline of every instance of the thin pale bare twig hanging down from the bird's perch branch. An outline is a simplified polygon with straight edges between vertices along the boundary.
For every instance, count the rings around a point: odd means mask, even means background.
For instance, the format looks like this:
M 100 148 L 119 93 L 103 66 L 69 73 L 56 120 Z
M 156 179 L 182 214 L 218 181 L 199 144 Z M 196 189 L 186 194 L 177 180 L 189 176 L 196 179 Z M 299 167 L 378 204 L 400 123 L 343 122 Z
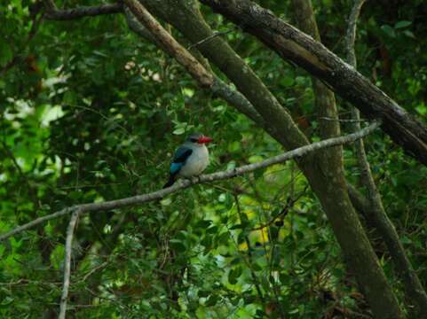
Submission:
M 70 221 L 67 228 L 67 239 L 65 245 L 65 258 L 64 258 L 64 282 L 62 284 L 62 295 L 60 298 L 59 304 L 59 319 L 65 319 L 67 312 L 67 299 L 68 299 L 68 288 L 69 288 L 69 278 L 71 274 L 71 253 L 72 253 L 72 244 L 73 244 L 73 235 L 75 230 L 75 224 L 77 223 L 79 214 L 81 213 L 80 209 L 75 210 L 71 215 Z

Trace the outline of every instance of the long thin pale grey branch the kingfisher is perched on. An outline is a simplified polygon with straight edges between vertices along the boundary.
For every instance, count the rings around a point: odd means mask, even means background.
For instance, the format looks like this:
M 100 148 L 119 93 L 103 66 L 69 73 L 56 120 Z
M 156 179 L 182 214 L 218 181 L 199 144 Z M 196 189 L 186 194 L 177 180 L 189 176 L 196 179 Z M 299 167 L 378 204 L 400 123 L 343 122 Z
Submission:
M 368 134 L 372 133 L 376 128 L 379 127 L 379 122 L 375 122 L 374 124 L 371 124 L 367 128 L 361 129 L 357 133 L 352 133 L 346 136 L 339 136 L 334 138 L 328 138 L 326 140 L 316 142 L 313 144 L 304 145 L 302 147 L 299 147 L 295 150 L 284 152 L 281 155 L 274 156 L 270 159 L 265 159 L 261 162 L 245 165 L 242 167 L 236 167 L 234 169 L 225 170 L 222 172 L 212 173 L 210 175 L 201 175 L 197 181 L 189 181 L 189 180 L 182 180 L 180 183 L 176 183 L 175 185 L 164 189 L 160 191 L 153 191 L 150 193 L 146 193 L 143 195 L 138 195 L 130 198 L 122 198 L 122 199 L 116 199 L 116 200 L 110 200 L 100 203 L 91 203 L 91 204 L 81 204 L 76 206 L 71 206 L 64 208 L 56 213 L 49 214 L 40 218 L 37 218 L 36 220 L 32 222 L 28 222 L 27 224 L 24 224 L 20 227 L 17 227 L 13 230 L 10 230 L 3 235 L 0 235 L 0 241 L 4 241 L 5 239 L 12 237 L 24 230 L 28 230 L 30 228 L 35 227 L 36 225 L 39 225 L 43 222 L 49 221 L 54 218 L 58 218 L 60 216 L 75 213 L 76 211 L 80 212 L 80 214 L 83 213 L 89 213 L 89 212 L 99 212 L 99 211 L 105 211 L 105 210 L 112 210 L 117 208 L 122 208 L 124 206 L 136 206 L 141 205 L 143 203 L 146 203 L 148 201 L 153 201 L 157 199 L 161 199 L 166 197 L 167 195 L 170 195 L 171 193 L 174 193 L 179 190 L 186 189 L 190 186 L 193 186 L 198 183 L 209 183 L 209 182 L 215 182 L 215 181 L 222 181 L 226 179 L 233 178 L 235 176 L 244 175 L 249 172 L 253 172 L 257 169 L 265 168 L 272 166 L 274 164 L 282 163 L 289 159 L 296 159 L 303 157 L 307 154 L 310 154 L 312 152 L 319 151 L 320 149 L 324 149 L 327 147 L 332 147 L 336 145 L 341 144 L 349 144 L 352 143 L 359 138 L 363 136 L 367 136 Z

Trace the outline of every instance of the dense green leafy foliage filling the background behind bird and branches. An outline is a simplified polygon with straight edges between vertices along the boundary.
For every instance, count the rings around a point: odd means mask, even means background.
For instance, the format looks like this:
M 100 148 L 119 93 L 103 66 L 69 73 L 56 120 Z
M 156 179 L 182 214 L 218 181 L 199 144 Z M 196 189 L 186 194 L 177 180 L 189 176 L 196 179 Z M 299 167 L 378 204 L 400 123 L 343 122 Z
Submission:
M 83 4 L 94 3 L 66 6 Z M 292 21 L 287 1 L 259 4 Z M 0 4 L 0 232 L 65 206 L 161 188 L 171 153 L 189 132 L 215 140 L 208 172 L 282 152 L 262 128 L 133 34 L 122 14 L 52 21 L 35 14 L 35 5 Z M 313 2 L 324 43 L 340 55 L 350 5 Z M 233 28 L 202 9 L 215 29 Z M 422 0 L 368 2 L 356 45 L 360 72 L 424 120 L 425 19 Z M 224 36 L 316 139 L 310 76 L 239 29 Z M 348 118 L 348 105 L 339 102 Z M 427 169 L 381 133 L 366 144 L 386 211 L 426 287 Z M 359 185 L 351 146 L 344 163 L 349 181 Z M 67 221 L 0 245 L 1 317 L 57 314 Z M 370 237 L 402 299 L 382 240 Z M 68 311 L 77 318 L 369 315 L 294 163 L 81 216 Z

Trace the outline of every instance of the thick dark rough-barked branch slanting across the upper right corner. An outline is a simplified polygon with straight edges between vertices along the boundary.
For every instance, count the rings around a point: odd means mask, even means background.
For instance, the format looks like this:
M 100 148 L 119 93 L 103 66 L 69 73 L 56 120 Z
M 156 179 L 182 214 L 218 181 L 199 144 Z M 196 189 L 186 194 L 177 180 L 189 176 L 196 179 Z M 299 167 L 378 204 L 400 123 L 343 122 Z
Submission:
M 383 129 L 393 141 L 427 165 L 427 128 L 423 123 L 321 43 L 249 0 L 201 2 L 243 26 L 282 58 L 327 82 L 367 117 L 382 119 Z

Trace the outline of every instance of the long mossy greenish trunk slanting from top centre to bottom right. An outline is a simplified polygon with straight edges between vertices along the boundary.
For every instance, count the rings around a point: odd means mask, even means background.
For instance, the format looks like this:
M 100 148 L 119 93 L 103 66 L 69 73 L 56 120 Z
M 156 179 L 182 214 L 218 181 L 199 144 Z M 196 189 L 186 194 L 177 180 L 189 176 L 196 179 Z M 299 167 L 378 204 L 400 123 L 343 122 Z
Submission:
M 140 0 L 140 2 L 154 15 L 177 27 L 192 43 L 199 43 L 213 35 L 193 1 Z M 278 142 L 288 149 L 308 143 L 289 113 L 228 44 L 216 37 L 198 45 L 198 49 L 227 75 L 243 96 L 248 98 L 268 123 L 265 130 Z M 300 159 L 298 164 L 311 183 L 313 191 L 320 198 L 346 260 L 356 270 L 360 286 L 365 287 L 367 300 L 374 313 L 380 318 L 400 318 L 397 301 L 386 282 L 384 272 L 361 228 L 347 193 L 340 191 L 336 194 L 336 188 L 345 189 L 344 179 L 336 178 L 328 171 L 328 167 L 322 166 L 321 159 L 317 156 Z

